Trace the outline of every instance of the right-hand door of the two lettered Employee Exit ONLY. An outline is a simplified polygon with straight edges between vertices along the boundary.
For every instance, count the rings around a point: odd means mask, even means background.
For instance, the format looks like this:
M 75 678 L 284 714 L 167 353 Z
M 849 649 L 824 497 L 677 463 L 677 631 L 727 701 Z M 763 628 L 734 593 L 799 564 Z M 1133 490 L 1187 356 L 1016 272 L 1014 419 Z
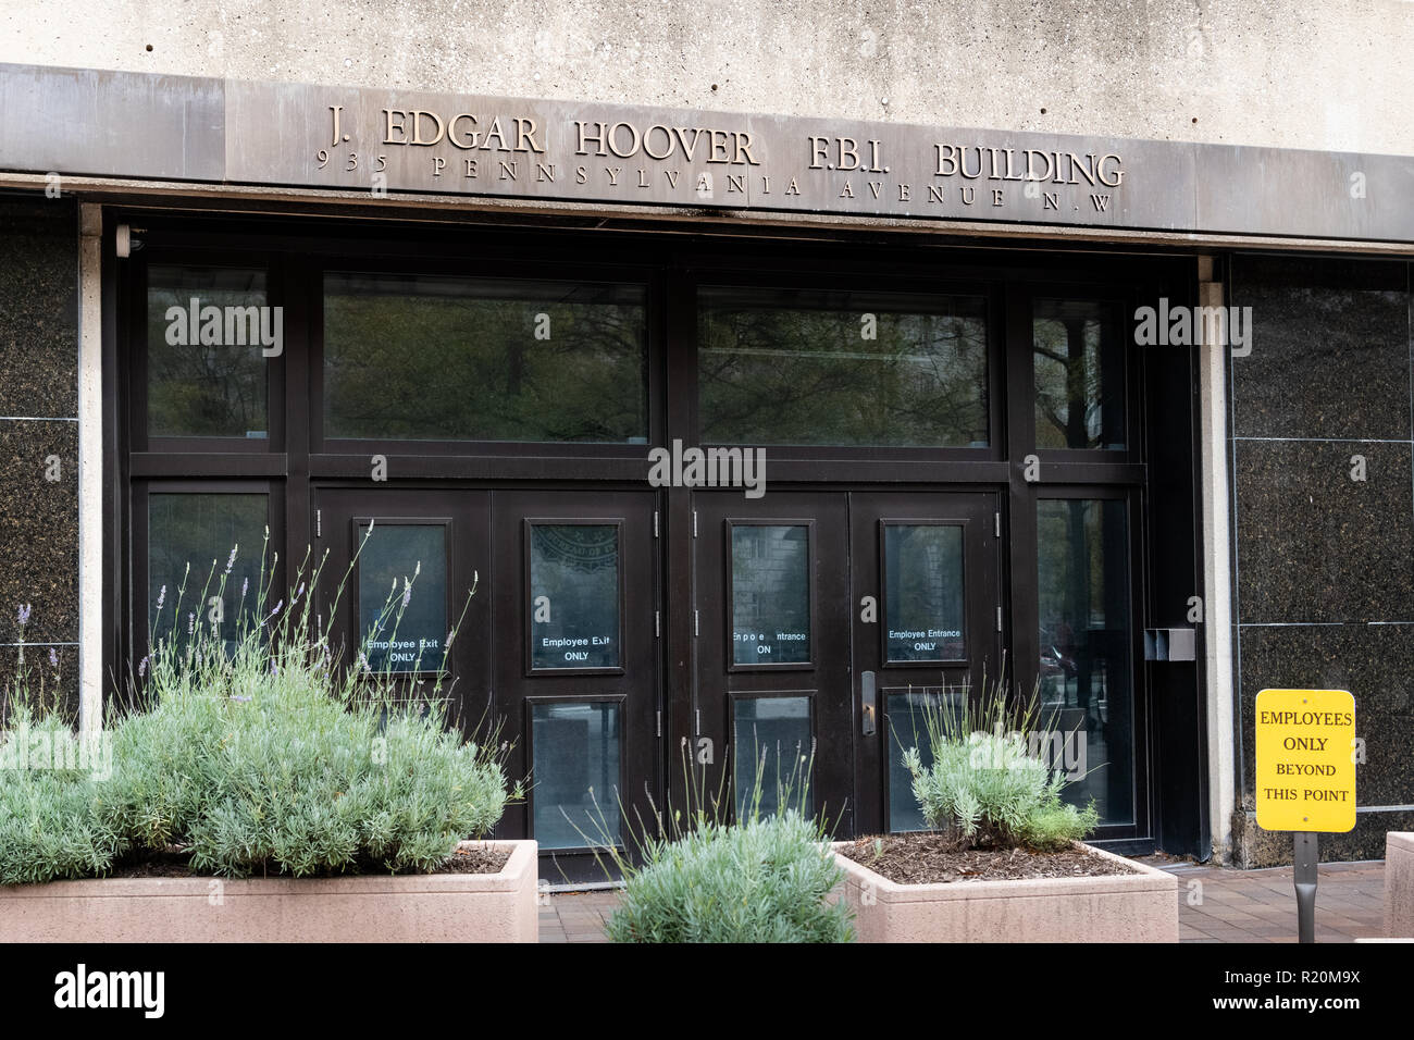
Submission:
M 534 838 L 540 876 L 605 880 L 591 852 L 632 850 L 658 794 L 659 553 L 653 492 L 492 498 L 495 700 L 512 775 L 532 780 L 506 838 Z

